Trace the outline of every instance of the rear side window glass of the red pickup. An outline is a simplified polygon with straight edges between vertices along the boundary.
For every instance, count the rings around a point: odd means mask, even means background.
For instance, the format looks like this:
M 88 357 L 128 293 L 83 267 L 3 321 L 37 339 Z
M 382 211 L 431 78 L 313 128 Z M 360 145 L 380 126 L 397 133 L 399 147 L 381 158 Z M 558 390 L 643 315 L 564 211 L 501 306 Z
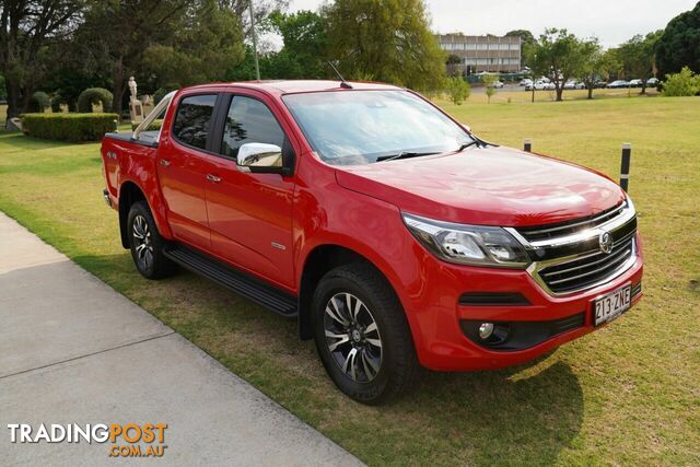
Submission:
M 215 94 L 192 95 L 182 100 L 173 124 L 175 139 L 194 148 L 206 149 L 215 102 Z

